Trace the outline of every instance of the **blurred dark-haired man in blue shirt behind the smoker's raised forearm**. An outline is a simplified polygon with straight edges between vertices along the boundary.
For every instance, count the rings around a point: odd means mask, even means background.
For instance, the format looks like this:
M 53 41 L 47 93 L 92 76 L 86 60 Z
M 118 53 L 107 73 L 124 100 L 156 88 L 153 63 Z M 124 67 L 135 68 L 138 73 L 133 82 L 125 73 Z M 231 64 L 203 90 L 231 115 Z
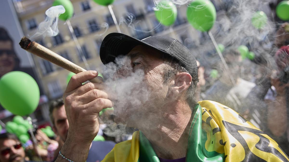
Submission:
M 53 124 L 53 130 L 60 136 L 61 140 L 66 141 L 68 134 L 68 120 L 62 99 L 51 101 L 49 106 L 49 116 Z M 86 159 L 88 162 L 101 161 L 110 150 L 114 147 L 115 143 L 112 141 L 92 141 L 90 144 L 89 154 Z M 59 150 L 62 145 L 59 145 Z M 57 154 L 58 155 L 58 154 Z M 57 156 L 56 156 L 57 157 Z

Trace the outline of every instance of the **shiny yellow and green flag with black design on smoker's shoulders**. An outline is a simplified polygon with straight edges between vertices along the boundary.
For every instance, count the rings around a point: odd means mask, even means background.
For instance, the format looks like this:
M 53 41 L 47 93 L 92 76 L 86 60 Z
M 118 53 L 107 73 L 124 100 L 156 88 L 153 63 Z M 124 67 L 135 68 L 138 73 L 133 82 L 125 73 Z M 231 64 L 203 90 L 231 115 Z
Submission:
M 289 161 L 268 135 L 240 114 L 214 101 L 199 101 L 193 110 L 186 161 Z M 159 162 L 141 131 L 116 144 L 104 162 Z

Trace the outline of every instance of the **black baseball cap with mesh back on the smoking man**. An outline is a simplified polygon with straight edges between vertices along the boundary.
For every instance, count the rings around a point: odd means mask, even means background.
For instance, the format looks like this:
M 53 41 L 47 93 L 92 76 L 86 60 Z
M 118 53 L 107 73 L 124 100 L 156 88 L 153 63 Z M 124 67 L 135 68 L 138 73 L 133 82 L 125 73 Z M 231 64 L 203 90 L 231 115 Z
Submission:
M 128 54 L 138 45 L 147 46 L 167 56 L 171 56 L 188 70 L 192 76 L 192 80 L 199 81 L 197 61 L 194 55 L 186 46 L 171 37 L 150 36 L 138 40 L 122 33 L 110 33 L 101 43 L 100 59 L 103 64 L 114 62 L 117 56 Z

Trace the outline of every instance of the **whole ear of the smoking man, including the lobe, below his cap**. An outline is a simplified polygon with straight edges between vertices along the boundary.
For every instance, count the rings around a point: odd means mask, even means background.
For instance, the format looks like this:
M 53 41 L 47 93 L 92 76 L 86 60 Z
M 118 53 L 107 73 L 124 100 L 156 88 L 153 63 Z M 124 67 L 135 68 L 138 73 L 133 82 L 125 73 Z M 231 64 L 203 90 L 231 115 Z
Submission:
M 192 84 L 192 76 L 189 73 L 181 72 L 175 75 L 170 82 L 167 98 L 176 99 L 179 95 L 182 95 Z

